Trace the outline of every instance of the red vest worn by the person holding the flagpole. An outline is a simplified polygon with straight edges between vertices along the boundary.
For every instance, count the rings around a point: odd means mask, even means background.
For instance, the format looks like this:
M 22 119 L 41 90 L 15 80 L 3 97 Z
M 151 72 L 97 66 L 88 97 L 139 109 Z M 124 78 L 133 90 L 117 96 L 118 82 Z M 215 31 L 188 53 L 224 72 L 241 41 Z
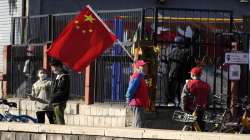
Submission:
M 149 107 L 149 97 L 148 97 L 148 86 L 145 80 L 140 77 L 140 74 L 134 73 L 131 78 L 140 78 L 139 88 L 136 90 L 134 98 L 129 102 L 130 106 L 142 106 L 144 108 Z

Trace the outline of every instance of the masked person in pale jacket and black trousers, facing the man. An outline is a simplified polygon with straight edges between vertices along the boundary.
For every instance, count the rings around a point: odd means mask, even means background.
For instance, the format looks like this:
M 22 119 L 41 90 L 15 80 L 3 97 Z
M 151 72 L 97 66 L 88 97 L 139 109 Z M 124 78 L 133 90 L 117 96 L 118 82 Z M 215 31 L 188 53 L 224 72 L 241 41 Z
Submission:
M 52 107 L 49 104 L 49 96 L 51 90 L 51 80 L 49 80 L 45 69 L 39 69 L 38 80 L 32 85 L 31 95 L 29 98 L 35 101 L 36 116 L 38 123 L 45 123 L 45 114 L 49 119 L 49 123 L 53 124 L 54 113 Z

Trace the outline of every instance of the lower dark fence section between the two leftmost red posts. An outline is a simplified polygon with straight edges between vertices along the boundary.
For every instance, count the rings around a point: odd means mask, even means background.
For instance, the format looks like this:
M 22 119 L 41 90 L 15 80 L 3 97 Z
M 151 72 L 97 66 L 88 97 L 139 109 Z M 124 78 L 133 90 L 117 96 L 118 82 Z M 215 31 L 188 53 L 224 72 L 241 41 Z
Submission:
M 37 80 L 36 72 L 42 67 L 42 46 L 34 47 L 33 55 L 26 55 L 26 50 L 27 46 L 23 45 L 11 47 L 8 81 L 14 97 L 26 97 L 31 93 L 32 83 Z

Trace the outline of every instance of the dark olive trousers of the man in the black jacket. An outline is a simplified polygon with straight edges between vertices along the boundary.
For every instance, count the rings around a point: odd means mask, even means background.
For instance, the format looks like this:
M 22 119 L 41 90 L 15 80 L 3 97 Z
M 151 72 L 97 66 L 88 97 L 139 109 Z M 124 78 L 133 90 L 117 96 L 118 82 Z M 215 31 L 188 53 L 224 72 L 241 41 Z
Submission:
M 66 102 L 52 104 L 55 114 L 55 124 L 65 124 L 64 120 L 64 110 L 66 108 Z

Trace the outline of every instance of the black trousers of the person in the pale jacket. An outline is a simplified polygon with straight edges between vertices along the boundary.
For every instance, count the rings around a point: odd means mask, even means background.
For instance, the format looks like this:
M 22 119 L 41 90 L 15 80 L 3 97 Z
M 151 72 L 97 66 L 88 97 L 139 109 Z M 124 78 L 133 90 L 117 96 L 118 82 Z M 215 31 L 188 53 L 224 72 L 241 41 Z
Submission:
M 50 124 L 54 124 L 54 112 L 53 111 L 37 111 L 36 117 L 38 123 L 45 123 L 45 114 L 49 119 Z

